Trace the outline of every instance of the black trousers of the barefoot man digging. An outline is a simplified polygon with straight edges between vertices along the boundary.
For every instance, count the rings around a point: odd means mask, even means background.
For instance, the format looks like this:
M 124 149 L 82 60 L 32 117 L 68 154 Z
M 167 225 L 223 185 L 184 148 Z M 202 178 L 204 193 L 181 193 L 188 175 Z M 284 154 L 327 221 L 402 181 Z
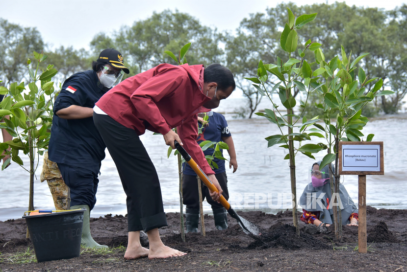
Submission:
M 158 175 L 140 137 L 108 115 L 93 113 L 93 120 L 127 195 L 128 231 L 168 226 Z

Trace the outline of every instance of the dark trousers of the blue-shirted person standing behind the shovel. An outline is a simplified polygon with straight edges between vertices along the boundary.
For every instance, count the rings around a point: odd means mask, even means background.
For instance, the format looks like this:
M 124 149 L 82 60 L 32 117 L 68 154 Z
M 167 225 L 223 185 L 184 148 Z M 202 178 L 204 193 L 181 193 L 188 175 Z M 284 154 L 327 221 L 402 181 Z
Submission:
M 182 199 L 183 204 L 186 205 L 187 208 L 190 209 L 199 209 L 199 192 L 198 192 L 198 180 L 197 176 L 191 175 L 182 175 Z M 226 176 L 226 172 L 219 173 L 215 175 L 216 179 L 219 181 L 219 185 L 223 190 L 222 195 L 229 199 L 229 191 L 228 191 L 228 176 Z M 222 204 L 217 203 L 212 200 L 209 189 L 206 187 L 203 182 L 201 181 L 201 188 L 202 188 L 202 200 L 206 198 L 208 204 L 211 205 L 212 209 L 222 208 Z

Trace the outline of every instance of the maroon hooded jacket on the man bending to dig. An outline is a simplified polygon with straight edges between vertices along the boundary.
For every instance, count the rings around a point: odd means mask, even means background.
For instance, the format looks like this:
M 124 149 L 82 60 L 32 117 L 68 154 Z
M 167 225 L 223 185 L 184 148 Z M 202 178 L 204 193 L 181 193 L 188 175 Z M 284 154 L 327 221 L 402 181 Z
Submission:
M 138 135 L 147 130 L 167 134 L 177 127 L 185 150 L 205 174 L 214 174 L 198 137 L 198 115 L 208 112 L 203 90 L 203 65 L 160 64 L 129 77 L 106 92 L 96 105 L 114 120 Z

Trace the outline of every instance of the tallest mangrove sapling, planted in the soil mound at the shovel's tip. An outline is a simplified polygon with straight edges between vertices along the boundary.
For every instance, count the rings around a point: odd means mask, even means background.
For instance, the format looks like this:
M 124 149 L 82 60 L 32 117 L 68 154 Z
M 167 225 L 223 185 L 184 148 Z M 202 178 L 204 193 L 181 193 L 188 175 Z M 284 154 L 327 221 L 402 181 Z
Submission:
M 306 133 L 307 128 L 319 121 L 318 116 L 307 120 L 302 118 L 302 114 L 307 107 L 308 96 L 314 91 L 315 86 L 311 86 L 310 83 L 316 81 L 314 75 L 311 73 L 311 68 L 314 63 L 308 64 L 305 57 L 305 50 L 316 51 L 321 44 L 311 42 L 305 43 L 304 50 L 298 49 L 298 55 L 301 60 L 292 58 L 292 53 L 296 52 L 298 37 L 295 29 L 301 29 L 306 23 L 313 21 L 316 17 L 314 14 L 304 14 L 295 20 L 295 15 L 289 8 L 288 11 L 288 23 L 285 24 L 284 30 L 280 37 L 280 46 L 282 50 L 287 52 L 287 62 L 283 62 L 280 57 L 277 57 L 277 64 L 263 64 L 259 62 L 257 68 L 257 77 L 246 78 L 252 81 L 253 86 L 263 96 L 267 96 L 272 104 L 273 110 L 265 109 L 265 113 L 255 113 L 259 116 L 266 117 L 271 123 L 278 126 L 279 135 L 268 136 L 265 139 L 268 141 L 268 147 L 272 147 L 276 144 L 282 144 L 280 147 L 288 149 L 288 154 L 284 159 L 289 159 L 290 178 L 291 178 L 291 193 L 293 195 L 293 224 L 297 229 L 297 233 L 300 234 L 298 215 L 297 215 L 297 187 L 296 187 L 296 173 L 295 173 L 295 156 L 298 152 L 305 156 L 315 159 L 312 153 L 317 153 L 323 149 L 327 149 L 325 144 L 303 144 L 306 140 L 310 140 L 310 136 L 318 136 L 313 133 Z M 297 67 L 298 64 L 298 67 Z M 277 78 L 279 82 L 274 85 L 271 90 L 268 90 L 267 80 L 269 79 L 268 73 L 271 74 L 270 79 Z M 314 78 L 312 78 L 314 76 Z M 304 79 L 304 80 L 303 80 Z M 302 82 L 304 81 L 304 83 Z M 286 113 L 279 110 L 279 106 L 273 101 L 273 93 L 279 90 L 279 98 L 283 107 L 285 107 Z M 294 114 L 294 107 L 297 105 L 295 93 L 301 91 L 305 93 L 305 102 L 300 100 L 301 113 Z M 293 117 L 297 118 L 295 121 Z M 299 122 L 302 120 L 302 122 Z M 298 123 L 298 124 L 297 124 Z M 282 128 L 286 126 L 288 133 L 284 134 Z M 298 144 L 294 144 L 298 142 Z

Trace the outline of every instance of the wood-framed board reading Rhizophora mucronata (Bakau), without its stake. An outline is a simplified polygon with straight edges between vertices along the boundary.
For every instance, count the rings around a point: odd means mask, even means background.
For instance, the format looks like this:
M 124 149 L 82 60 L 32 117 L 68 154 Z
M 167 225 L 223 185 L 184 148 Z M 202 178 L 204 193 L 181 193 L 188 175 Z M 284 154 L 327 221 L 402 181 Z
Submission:
M 340 175 L 384 175 L 383 142 L 339 142 Z

